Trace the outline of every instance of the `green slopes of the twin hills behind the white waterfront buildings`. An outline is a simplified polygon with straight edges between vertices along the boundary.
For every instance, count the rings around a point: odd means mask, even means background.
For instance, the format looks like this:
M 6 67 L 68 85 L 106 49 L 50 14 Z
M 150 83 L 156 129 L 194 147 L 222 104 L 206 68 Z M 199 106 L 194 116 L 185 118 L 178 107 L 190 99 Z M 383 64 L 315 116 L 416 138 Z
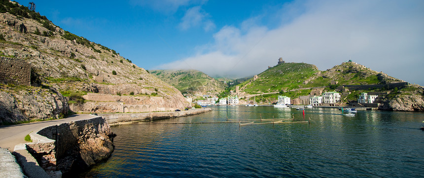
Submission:
M 255 97 L 257 103 L 273 103 L 278 95 L 290 98 L 307 96 L 314 87 L 334 91 L 340 85 L 369 85 L 403 82 L 383 72 L 373 71 L 354 62 L 344 62 L 326 71 L 319 71 L 315 65 L 305 63 L 283 63 L 263 71 L 257 79 L 250 78 L 237 85 L 242 96 L 263 94 Z M 235 87 L 231 89 L 234 90 Z M 354 100 L 358 92 L 348 99 Z M 355 95 L 355 96 L 353 96 Z M 249 99 L 245 98 L 249 101 Z

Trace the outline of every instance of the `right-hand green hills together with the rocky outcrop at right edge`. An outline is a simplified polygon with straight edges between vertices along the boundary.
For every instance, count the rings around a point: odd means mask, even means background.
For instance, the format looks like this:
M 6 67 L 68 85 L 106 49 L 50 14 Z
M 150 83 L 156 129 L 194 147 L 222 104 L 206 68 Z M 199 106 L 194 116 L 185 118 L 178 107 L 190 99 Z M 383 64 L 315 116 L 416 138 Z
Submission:
M 278 95 L 286 95 L 292 99 L 301 96 L 318 95 L 325 91 L 337 90 L 342 93 L 345 105 L 357 100 L 360 92 L 380 93 L 383 110 L 424 110 L 423 87 L 408 85 L 402 88 L 385 88 L 383 84 L 405 82 L 383 72 L 373 71 L 352 61 L 344 62 L 326 71 L 319 71 L 316 66 L 304 63 L 283 63 L 257 75 L 257 78 L 238 85 L 238 95 L 243 102 L 260 104 L 275 103 Z M 341 85 L 375 85 L 368 89 L 351 89 L 346 92 Z M 380 87 L 377 87 L 380 85 Z M 360 87 L 359 87 L 360 88 Z M 349 88 L 348 88 L 349 89 Z M 300 100 L 299 100 L 300 101 Z

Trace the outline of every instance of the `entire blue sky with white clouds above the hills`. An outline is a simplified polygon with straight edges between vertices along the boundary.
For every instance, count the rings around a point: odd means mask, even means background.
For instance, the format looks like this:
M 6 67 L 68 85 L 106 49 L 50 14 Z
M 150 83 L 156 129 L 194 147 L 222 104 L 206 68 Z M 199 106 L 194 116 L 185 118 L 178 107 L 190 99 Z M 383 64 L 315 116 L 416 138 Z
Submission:
M 236 78 L 265 71 L 279 58 L 321 71 L 352 59 L 424 86 L 424 0 L 34 2 L 55 25 L 146 70 Z

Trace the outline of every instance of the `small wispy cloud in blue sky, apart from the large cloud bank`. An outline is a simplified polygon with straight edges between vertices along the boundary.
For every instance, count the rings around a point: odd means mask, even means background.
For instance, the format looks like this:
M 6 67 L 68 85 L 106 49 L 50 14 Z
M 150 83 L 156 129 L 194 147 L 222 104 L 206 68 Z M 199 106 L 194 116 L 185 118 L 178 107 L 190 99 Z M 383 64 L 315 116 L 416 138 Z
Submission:
M 215 28 L 215 24 L 209 19 L 209 14 L 206 13 L 201 6 L 189 8 L 181 18 L 181 23 L 178 25 L 181 30 L 200 26 L 203 26 L 206 32 Z

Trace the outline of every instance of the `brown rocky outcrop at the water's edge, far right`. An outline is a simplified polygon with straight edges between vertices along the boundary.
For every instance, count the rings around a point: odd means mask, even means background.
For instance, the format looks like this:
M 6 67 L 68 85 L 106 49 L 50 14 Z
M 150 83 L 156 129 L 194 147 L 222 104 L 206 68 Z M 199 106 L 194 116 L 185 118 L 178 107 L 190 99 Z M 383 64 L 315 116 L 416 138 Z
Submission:
M 392 98 L 383 101 L 378 108 L 381 110 L 396 111 L 424 111 L 424 89 L 419 85 L 409 85 L 397 93 L 391 94 Z

